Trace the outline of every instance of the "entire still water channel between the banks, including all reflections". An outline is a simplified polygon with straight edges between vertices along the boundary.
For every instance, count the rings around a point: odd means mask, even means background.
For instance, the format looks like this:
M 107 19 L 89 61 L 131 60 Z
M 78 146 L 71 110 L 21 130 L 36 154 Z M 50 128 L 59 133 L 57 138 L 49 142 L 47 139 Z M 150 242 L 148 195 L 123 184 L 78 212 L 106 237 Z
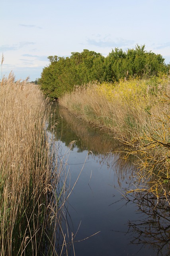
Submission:
M 75 185 L 65 212 L 67 240 L 74 241 L 69 255 L 170 255 L 170 208 L 165 202 L 155 208 L 156 200 L 141 193 L 125 198 L 135 168 L 122 160 L 121 146 L 66 110 L 55 107 L 55 116 L 59 158 L 67 163 L 70 190 Z

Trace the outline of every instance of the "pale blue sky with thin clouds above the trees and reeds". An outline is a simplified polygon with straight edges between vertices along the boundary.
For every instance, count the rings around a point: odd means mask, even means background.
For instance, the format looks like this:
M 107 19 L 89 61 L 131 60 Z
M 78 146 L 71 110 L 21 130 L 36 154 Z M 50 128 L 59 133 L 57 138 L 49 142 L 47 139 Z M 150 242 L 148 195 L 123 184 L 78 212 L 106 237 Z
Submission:
M 3 0 L 0 79 L 41 77 L 48 56 L 144 45 L 170 63 L 170 0 Z

